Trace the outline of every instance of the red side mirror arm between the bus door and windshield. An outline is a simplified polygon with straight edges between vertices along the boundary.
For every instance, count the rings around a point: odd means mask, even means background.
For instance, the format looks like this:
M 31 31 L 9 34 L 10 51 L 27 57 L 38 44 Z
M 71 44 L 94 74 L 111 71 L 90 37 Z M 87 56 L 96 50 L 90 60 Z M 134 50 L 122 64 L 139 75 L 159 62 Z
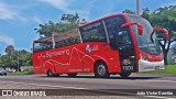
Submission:
M 124 24 L 121 25 L 121 28 L 125 28 L 125 26 L 130 26 L 130 25 L 136 25 L 136 26 L 138 26 L 139 35 L 142 35 L 142 34 L 143 34 L 143 26 L 142 26 L 142 24 L 140 24 L 140 23 L 138 23 L 138 22 L 124 23 Z

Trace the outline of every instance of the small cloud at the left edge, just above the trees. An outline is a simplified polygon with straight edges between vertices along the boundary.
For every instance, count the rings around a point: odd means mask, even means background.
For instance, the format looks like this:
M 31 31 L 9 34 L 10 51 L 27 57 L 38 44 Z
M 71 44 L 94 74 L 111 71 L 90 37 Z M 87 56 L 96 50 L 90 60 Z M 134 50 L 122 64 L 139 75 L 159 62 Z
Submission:
M 14 40 L 12 37 L 0 35 L 0 44 L 14 45 Z

